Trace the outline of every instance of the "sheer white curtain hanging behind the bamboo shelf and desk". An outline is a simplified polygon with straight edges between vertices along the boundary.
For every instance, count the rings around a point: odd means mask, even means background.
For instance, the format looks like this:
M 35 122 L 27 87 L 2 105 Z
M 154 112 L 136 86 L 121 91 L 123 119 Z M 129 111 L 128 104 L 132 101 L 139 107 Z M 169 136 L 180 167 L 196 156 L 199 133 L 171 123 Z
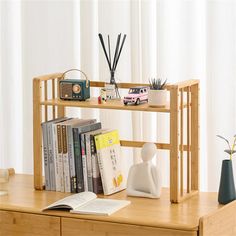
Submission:
M 126 33 L 118 81 L 200 79 L 200 184 L 217 191 L 226 155 L 216 134 L 236 133 L 235 1 L 3 0 L 0 13 L 0 167 L 32 173 L 32 78 L 77 67 L 91 80 L 108 81 L 97 35 L 109 34 L 114 50 L 117 34 Z M 169 141 L 165 114 L 82 110 L 81 115 L 99 117 L 123 139 Z M 128 159 L 132 154 L 125 152 Z M 158 156 L 168 185 L 168 153 Z

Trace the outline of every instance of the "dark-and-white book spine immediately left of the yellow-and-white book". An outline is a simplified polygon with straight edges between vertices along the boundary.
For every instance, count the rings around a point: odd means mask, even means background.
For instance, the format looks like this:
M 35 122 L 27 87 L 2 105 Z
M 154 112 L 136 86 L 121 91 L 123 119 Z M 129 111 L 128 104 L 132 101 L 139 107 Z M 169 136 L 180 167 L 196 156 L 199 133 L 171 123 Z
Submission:
M 90 135 L 91 159 L 92 159 L 92 178 L 93 178 L 93 192 L 103 193 L 102 179 L 98 166 L 98 157 L 95 148 L 94 136 Z

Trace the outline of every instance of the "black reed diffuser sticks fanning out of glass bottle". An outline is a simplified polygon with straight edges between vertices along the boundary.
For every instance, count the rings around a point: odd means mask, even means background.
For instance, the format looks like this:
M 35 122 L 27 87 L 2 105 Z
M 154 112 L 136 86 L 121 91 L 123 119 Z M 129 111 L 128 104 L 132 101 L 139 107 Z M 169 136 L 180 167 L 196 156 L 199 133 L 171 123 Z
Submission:
M 116 67 L 120 58 L 120 54 L 121 51 L 123 49 L 124 43 L 125 43 L 125 39 L 126 39 L 126 34 L 123 36 L 123 40 L 120 46 L 120 41 L 121 41 L 121 34 L 118 34 L 117 36 L 117 40 L 116 40 L 116 48 L 115 48 L 115 53 L 114 53 L 114 58 L 113 58 L 113 63 L 111 61 L 111 44 L 110 44 L 110 36 L 107 36 L 107 41 L 108 41 L 108 53 L 106 50 L 106 46 L 103 40 L 103 36 L 102 34 L 98 34 L 106 60 L 107 60 L 107 64 L 109 66 L 110 69 L 110 74 L 111 74 L 111 78 L 110 78 L 110 84 L 114 84 L 115 85 L 115 89 L 116 89 L 116 96 L 120 97 L 119 91 L 118 91 L 118 86 L 117 83 L 115 81 L 115 71 L 116 71 Z M 109 55 L 109 57 L 108 57 Z

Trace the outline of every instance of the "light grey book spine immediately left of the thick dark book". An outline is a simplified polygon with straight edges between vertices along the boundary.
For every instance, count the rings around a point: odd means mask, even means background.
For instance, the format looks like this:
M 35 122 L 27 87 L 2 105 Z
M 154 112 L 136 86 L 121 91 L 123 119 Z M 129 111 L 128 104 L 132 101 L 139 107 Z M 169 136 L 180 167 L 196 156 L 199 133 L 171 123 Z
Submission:
M 71 125 L 67 126 L 67 136 L 68 136 L 68 158 L 70 167 L 71 193 L 76 193 L 75 159 L 74 159 L 74 147 L 73 147 L 73 133 Z

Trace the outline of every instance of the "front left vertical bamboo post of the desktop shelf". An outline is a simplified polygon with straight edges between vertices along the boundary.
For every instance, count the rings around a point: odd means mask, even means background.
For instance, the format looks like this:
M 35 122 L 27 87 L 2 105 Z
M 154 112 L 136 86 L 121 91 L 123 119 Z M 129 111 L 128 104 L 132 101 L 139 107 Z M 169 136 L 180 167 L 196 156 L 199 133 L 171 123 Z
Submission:
M 43 189 L 42 178 L 42 108 L 41 108 L 41 81 L 33 80 L 33 142 L 34 142 L 34 186 Z

